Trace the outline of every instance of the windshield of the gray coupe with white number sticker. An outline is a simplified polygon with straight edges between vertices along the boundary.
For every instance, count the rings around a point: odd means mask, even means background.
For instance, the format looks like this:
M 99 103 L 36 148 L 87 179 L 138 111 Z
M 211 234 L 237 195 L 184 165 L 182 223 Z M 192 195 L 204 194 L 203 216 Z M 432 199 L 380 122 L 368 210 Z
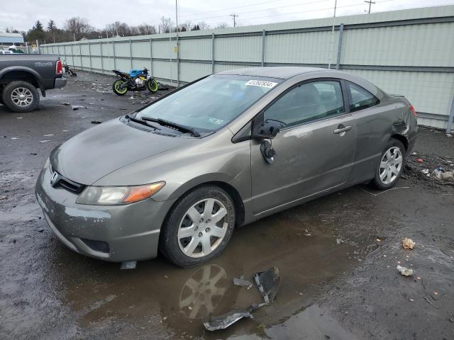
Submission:
M 200 132 L 216 131 L 281 81 L 275 78 L 212 75 L 143 108 L 135 118 L 163 119 Z

